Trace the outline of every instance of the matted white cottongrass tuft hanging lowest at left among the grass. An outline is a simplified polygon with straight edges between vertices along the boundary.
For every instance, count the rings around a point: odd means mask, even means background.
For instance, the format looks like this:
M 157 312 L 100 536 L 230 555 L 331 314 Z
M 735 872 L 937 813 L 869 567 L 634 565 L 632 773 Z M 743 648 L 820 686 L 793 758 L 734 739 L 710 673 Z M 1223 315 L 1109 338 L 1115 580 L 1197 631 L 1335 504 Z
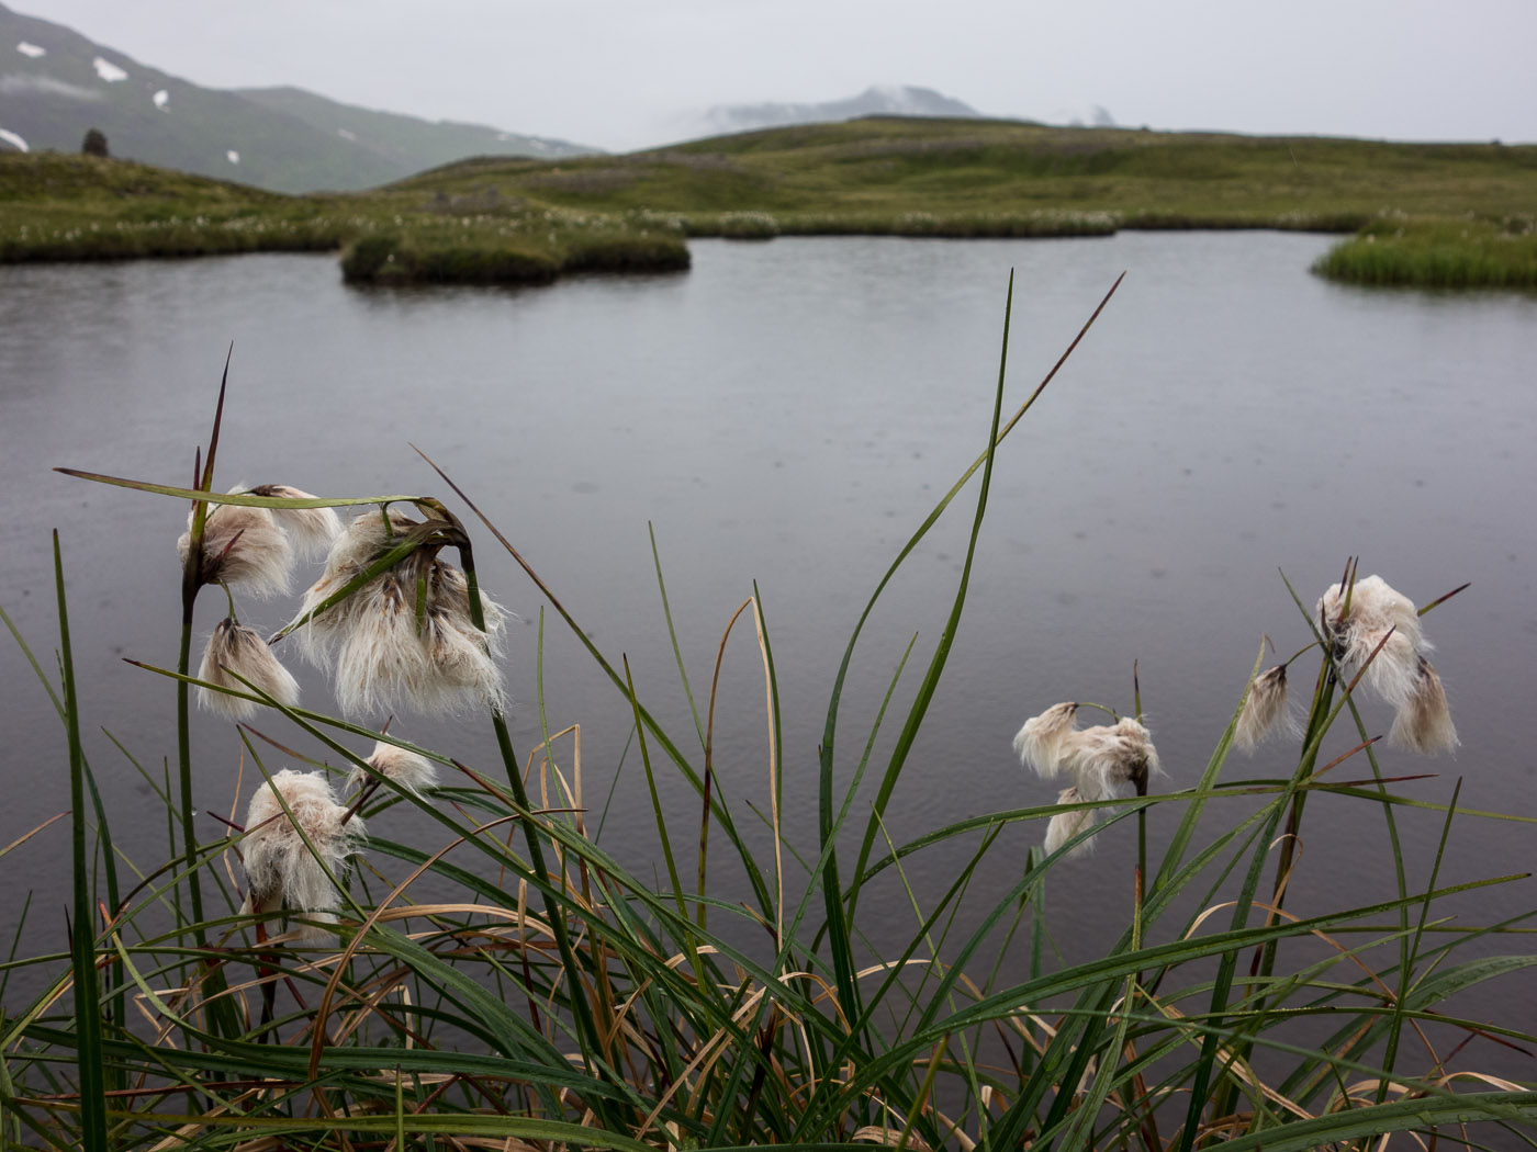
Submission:
M 257 788 L 246 809 L 247 831 L 240 845 L 247 886 L 241 911 L 263 914 L 287 908 L 335 923 L 334 909 L 341 903 L 337 880 L 366 836 L 363 820 L 346 816 L 347 809 L 337 803 L 330 782 L 320 773 L 284 768 Z M 300 938 L 324 943 L 327 934 L 321 926 L 306 925 Z

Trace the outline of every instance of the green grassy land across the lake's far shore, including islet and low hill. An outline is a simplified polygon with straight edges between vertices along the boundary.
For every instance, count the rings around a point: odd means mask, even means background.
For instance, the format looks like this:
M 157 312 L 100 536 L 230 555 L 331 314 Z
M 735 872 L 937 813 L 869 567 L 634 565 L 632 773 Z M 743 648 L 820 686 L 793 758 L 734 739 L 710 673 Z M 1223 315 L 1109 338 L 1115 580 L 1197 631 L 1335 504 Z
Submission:
M 1354 233 L 1360 284 L 1537 287 L 1537 146 L 876 117 L 283 195 L 124 160 L 0 155 L 0 263 L 341 252 L 350 283 L 689 267 L 687 240 Z

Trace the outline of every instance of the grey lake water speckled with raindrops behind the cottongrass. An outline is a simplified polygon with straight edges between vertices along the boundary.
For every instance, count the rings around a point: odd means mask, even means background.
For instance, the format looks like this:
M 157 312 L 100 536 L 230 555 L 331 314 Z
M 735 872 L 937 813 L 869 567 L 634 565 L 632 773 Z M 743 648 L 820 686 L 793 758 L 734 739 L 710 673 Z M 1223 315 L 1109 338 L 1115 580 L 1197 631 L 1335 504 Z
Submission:
M 1326 243 L 1279 233 L 705 241 L 693 244 L 686 275 L 387 293 L 344 287 L 329 257 L 0 267 L 0 605 L 52 667 L 49 530 L 58 528 L 92 763 L 118 840 L 140 866 L 160 863 L 158 802 L 100 730 L 157 774 L 174 756 L 171 687 L 118 657 L 175 662 L 184 507 L 49 468 L 186 484 L 234 341 L 221 487 L 447 496 L 409 447 L 420 445 L 604 653 L 629 656 L 642 699 L 679 734 L 692 720 L 647 522 L 701 710 L 721 631 L 756 581 L 784 699 L 787 823 L 810 848 L 838 659 L 885 565 L 985 444 L 1010 269 L 1005 410 L 1127 270 L 999 453 L 968 607 L 893 799 L 891 836 L 1051 799 L 1014 762 L 1014 730 L 1064 699 L 1128 710 L 1133 660 L 1167 783 L 1193 783 L 1260 634 L 1285 654 L 1305 642 L 1277 570 L 1311 605 L 1351 554 L 1362 574 L 1380 573 L 1417 602 L 1472 582 L 1426 617 L 1462 748 L 1431 760 L 1385 750 L 1383 770 L 1437 774 L 1400 785 L 1416 799 L 1445 802 L 1462 776 L 1465 806 L 1537 816 L 1537 300 L 1333 286 L 1306 272 Z M 918 633 L 918 654 L 899 700 L 939 637 L 973 499 L 974 482 L 867 627 L 841 728 L 845 773 L 908 639 Z M 538 739 L 543 676 L 547 720 L 583 723 L 587 796 L 603 797 L 629 737 L 627 707 L 553 614 L 541 670 L 536 588 L 489 544 L 480 558 L 486 585 L 521 617 L 509 659 L 520 750 Z M 201 630 L 221 611 L 215 599 L 201 605 Z M 243 616 L 275 627 L 290 608 L 246 604 Z M 1316 665 L 1303 664 L 1305 685 Z M 3 845 L 63 811 L 68 780 L 51 705 L 9 641 L 0 676 Z M 324 685 L 304 684 L 306 703 L 327 707 Z M 1385 731 L 1391 716 L 1368 707 L 1366 722 Z M 400 731 L 489 762 L 483 728 L 407 717 Z M 750 627 L 727 648 L 718 730 L 724 786 L 738 803 L 765 806 Z M 235 736 L 200 716 L 194 740 L 200 806 L 227 814 Z M 1251 762 L 1234 756 L 1228 776 L 1285 774 L 1288 754 L 1268 745 Z M 664 794 L 679 820 L 696 819 L 682 788 Z M 642 796 L 632 756 L 603 842 L 636 863 L 655 837 Z M 1429 874 L 1439 820 L 1405 816 L 1411 883 Z M 200 828 L 218 834 L 212 820 Z M 1041 831 L 1005 833 L 999 885 Z M 1323 797 L 1303 833 L 1291 909 L 1317 912 L 1342 892 L 1391 897 L 1374 808 Z M 1053 886 L 1068 955 L 1102 946 L 1130 900 L 1130 825 L 1100 840 Z M 60 822 L 6 859 L 8 874 L 26 879 L 0 897 L 5 935 L 31 888 L 28 942 L 60 945 L 68 843 Z M 1534 843 L 1529 823 L 1462 817 L 1440 882 L 1529 871 Z M 959 860 L 915 865 L 919 894 L 942 891 Z M 1477 923 L 1532 906 L 1532 883 L 1522 882 L 1443 911 Z M 910 917 L 899 889 L 881 911 L 893 923 Z M 1537 1028 L 1532 997 L 1469 1003 Z

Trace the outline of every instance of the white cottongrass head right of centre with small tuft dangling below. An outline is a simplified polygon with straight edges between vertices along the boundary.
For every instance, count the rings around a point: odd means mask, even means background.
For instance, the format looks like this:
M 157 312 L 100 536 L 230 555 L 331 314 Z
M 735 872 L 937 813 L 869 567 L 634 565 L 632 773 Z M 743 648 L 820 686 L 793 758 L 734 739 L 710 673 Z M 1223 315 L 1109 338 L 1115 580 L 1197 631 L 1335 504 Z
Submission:
M 1014 753 L 1039 776 L 1073 779 L 1057 803 L 1147 796 L 1148 777 L 1162 773 L 1148 730 L 1130 716 L 1094 728 L 1077 728 L 1076 720 L 1076 703 L 1057 703 L 1025 720 L 1014 736 Z M 1047 852 L 1054 852 L 1093 822 L 1093 808 L 1053 816 L 1047 825 Z M 1085 840 L 1070 856 L 1081 856 L 1088 848 Z

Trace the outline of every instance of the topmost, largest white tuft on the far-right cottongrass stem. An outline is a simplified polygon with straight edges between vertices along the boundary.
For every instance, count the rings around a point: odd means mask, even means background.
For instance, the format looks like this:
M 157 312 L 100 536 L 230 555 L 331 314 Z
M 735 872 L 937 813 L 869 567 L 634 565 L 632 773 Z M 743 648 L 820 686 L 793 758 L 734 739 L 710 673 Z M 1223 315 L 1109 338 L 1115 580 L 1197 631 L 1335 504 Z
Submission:
M 1317 613 L 1345 664 L 1353 671 L 1365 665 L 1366 685 L 1393 707 L 1402 707 L 1419 679 L 1420 654 L 1431 647 L 1420 633 L 1414 601 L 1380 576 L 1368 576 L 1356 581 L 1354 588 L 1330 585 L 1319 599 Z M 1377 651 L 1379 644 L 1382 651 Z

